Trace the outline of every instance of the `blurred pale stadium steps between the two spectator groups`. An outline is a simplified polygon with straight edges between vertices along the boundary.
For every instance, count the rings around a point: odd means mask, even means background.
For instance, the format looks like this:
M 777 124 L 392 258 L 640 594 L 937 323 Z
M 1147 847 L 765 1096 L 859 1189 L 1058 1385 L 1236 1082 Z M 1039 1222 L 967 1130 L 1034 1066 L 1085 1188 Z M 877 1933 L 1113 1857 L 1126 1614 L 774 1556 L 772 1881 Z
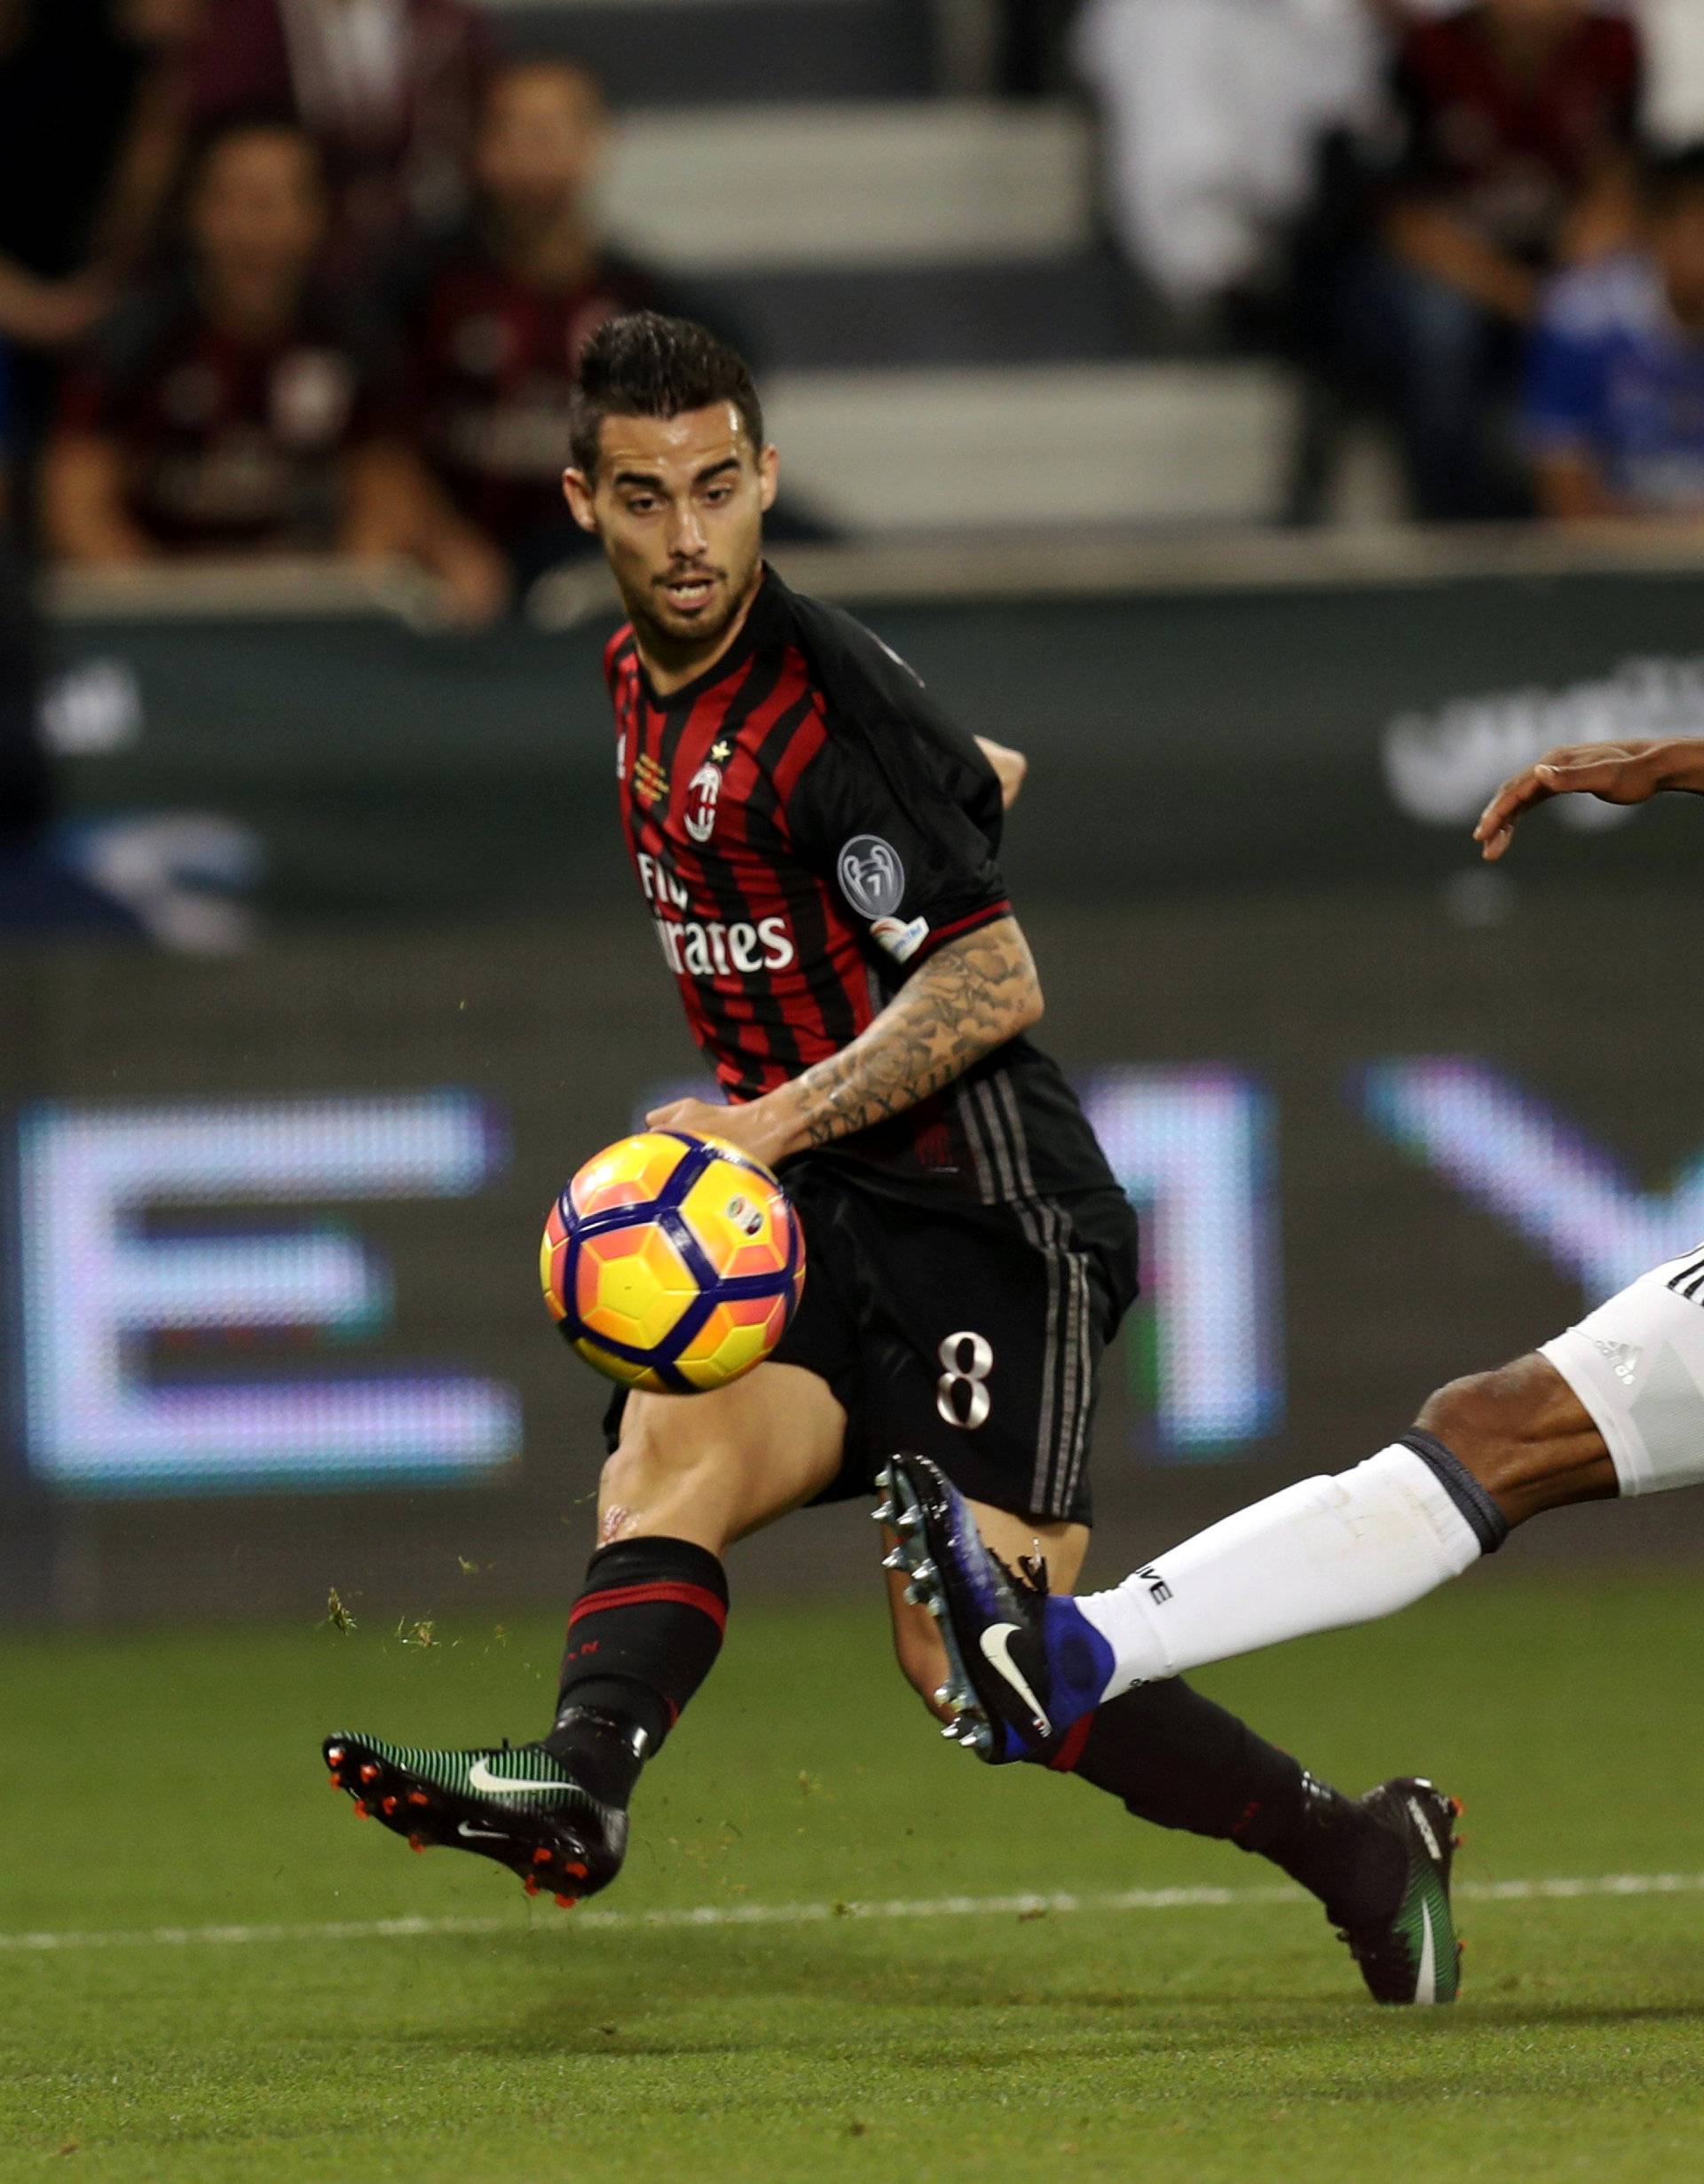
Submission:
M 749 334 L 813 509 L 898 533 L 1276 511 L 1285 376 L 1162 354 L 1099 234 L 1086 114 L 942 96 L 946 11 L 492 4 L 509 50 L 610 83 L 612 232 Z

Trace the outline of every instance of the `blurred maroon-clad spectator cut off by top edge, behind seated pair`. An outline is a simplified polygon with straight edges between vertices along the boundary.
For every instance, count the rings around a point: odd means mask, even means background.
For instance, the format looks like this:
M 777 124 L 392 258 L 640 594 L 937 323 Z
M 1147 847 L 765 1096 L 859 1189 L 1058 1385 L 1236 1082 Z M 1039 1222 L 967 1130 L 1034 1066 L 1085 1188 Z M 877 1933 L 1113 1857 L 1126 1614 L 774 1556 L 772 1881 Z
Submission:
M 190 111 L 293 114 L 326 153 L 332 258 L 358 271 L 461 212 L 487 61 L 468 0 L 216 0 Z

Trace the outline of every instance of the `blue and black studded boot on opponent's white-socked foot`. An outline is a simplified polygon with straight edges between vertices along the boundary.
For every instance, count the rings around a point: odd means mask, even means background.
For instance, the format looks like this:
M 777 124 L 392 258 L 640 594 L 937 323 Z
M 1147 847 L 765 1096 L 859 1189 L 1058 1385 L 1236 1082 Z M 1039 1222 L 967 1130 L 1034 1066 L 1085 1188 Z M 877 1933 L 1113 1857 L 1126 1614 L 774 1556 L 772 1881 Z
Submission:
M 983 1544 L 963 1496 L 928 1457 L 894 1457 L 876 1481 L 876 1522 L 898 1546 L 887 1568 L 911 1579 L 907 1599 L 937 1621 L 948 1679 L 937 1697 L 944 1734 L 990 1767 L 1033 1758 L 1108 1688 L 1112 1647 L 1073 1601 L 1046 1590 L 1046 1566 L 1009 1570 Z

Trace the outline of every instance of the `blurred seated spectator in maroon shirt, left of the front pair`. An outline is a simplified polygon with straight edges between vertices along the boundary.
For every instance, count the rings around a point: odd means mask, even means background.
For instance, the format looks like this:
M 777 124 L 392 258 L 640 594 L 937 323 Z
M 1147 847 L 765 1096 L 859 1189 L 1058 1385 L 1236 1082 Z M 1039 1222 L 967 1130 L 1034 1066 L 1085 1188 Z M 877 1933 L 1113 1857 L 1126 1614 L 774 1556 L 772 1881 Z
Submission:
M 229 124 L 188 188 L 190 264 L 122 308 L 74 371 L 44 472 L 68 561 L 413 557 L 470 620 L 502 603 L 492 550 L 409 450 L 384 339 L 315 277 L 319 153 L 288 122 Z

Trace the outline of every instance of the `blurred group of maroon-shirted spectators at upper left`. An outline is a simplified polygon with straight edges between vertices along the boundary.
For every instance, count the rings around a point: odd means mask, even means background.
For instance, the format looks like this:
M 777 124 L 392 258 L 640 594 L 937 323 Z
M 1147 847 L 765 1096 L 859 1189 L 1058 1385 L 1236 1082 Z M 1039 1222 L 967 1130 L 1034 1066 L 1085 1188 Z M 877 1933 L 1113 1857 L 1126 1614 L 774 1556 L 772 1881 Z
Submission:
M 0 336 L 59 561 L 413 559 L 461 618 L 566 544 L 607 116 L 465 0 L 0 0 Z

